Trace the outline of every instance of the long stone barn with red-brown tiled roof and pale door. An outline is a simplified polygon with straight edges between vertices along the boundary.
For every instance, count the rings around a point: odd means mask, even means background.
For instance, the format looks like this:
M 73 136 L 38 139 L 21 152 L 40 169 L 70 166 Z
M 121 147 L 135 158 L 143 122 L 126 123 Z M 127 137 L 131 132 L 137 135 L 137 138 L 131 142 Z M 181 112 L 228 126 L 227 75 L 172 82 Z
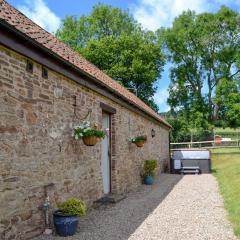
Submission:
M 109 128 L 85 146 L 72 127 Z M 143 161 L 169 164 L 171 126 L 126 88 L 0 0 L 0 239 L 44 230 L 46 196 L 91 205 L 141 184 Z M 146 135 L 139 148 L 129 138 Z M 104 166 L 104 167 L 103 167 Z

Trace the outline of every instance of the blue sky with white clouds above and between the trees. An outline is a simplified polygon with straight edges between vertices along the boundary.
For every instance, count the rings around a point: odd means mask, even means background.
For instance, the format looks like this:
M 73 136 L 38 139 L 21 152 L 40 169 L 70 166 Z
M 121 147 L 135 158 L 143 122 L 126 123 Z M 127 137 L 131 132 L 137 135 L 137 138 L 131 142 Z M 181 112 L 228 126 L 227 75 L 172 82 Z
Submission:
M 61 19 L 67 15 L 87 15 L 97 3 L 128 9 L 130 14 L 145 29 L 156 30 L 170 27 L 174 18 L 184 10 L 196 13 L 216 12 L 221 5 L 240 11 L 240 0 L 7 0 L 38 25 L 53 33 L 61 25 Z M 169 110 L 167 105 L 170 64 L 165 66 L 154 100 L 160 112 Z

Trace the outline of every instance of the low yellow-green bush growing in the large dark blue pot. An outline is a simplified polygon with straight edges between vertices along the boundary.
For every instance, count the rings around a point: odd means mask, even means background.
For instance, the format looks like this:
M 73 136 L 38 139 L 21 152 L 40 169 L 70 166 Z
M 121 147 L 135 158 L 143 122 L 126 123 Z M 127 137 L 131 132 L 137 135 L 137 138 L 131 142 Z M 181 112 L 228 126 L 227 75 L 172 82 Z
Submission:
M 58 203 L 57 207 L 60 212 L 69 215 L 84 216 L 87 211 L 86 204 L 77 198 L 70 198 L 65 202 Z

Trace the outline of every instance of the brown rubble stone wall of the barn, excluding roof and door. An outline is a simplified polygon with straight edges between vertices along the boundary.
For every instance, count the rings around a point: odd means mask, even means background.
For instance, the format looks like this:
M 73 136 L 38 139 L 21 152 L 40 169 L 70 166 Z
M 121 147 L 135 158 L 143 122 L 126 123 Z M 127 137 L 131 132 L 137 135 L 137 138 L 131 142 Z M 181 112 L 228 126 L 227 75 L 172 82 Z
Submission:
M 169 160 L 168 130 L 115 102 L 26 61 L 0 46 L 0 239 L 30 239 L 44 229 L 45 194 L 51 206 L 69 197 L 89 205 L 103 195 L 101 144 L 85 146 L 71 137 L 71 127 L 92 110 L 101 127 L 100 102 L 116 108 L 112 116 L 112 191 L 141 184 L 144 159 L 157 159 L 159 172 Z M 63 95 L 54 95 L 62 89 Z M 56 93 L 56 92 L 55 92 Z M 75 99 L 76 96 L 76 99 Z M 74 107 L 76 100 L 76 107 Z M 156 136 L 151 137 L 151 129 Z M 130 137 L 146 134 L 137 148 Z

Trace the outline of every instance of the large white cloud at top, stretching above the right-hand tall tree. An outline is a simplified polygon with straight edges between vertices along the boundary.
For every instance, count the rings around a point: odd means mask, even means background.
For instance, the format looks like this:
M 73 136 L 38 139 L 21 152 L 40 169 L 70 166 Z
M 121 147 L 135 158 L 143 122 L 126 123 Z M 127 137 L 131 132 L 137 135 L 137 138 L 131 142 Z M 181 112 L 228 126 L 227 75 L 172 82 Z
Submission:
M 174 18 L 184 10 L 190 9 L 196 13 L 214 11 L 224 4 L 240 8 L 240 0 L 138 0 L 130 9 L 144 28 L 156 30 L 161 26 L 171 26 Z

